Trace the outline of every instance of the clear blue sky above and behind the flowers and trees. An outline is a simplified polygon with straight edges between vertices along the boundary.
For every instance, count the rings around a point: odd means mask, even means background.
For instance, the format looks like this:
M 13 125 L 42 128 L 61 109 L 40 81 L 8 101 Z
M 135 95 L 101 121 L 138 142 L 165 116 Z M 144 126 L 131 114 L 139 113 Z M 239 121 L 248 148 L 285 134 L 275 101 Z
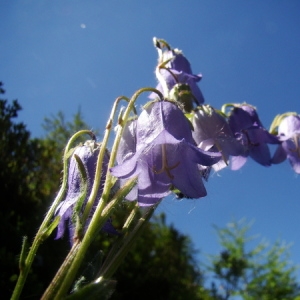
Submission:
M 44 117 L 63 111 L 71 118 L 79 108 L 103 132 L 116 97 L 155 87 L 154 36 L 182 49 L 203 74 L 207 104 L 248 102 L 267 128 L 276 114 L 300 113 L 296 0 L 2 0 L 0 19 L 5 98 L 19 100 L 19 119 L 35 137 Z M 207 197 L 171 197 L 159 211 L 202 254 L 220 250 L 212 224 L 245 217 L 255 221 L 253 234 L 293 243 L 300 264 L 299 180 L 288 162 L 265 168 L 248 160 L 239 171 L 213 174 Z

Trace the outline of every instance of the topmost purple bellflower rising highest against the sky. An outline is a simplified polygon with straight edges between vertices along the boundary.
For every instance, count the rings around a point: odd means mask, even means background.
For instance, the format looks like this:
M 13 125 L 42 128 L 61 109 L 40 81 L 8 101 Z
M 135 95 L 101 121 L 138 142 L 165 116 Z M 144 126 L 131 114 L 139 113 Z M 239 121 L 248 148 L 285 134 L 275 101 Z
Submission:
M 186 105 L 188 102 L 195 101 L 198 105 L 204 102 L 204 98 L 197 83 L 201 80 L 201 74 L 193 74 L 191 65 L 182 51 L 171 49 L 170 46 L 162 40 L 154 38 L 154 44 L 159 53 L 158 66 L 156 68 L 156 77 L 159 81 L 157 89 L 165 97 L 176 95 L 176 98 Z M 163 48 L 166 48 L 163 50 Z M 184 94 L 184 99 L 180 98 Z M 150 95 L 150 99 L 156 97 L 155 93 Z M 172 100 L 177 100 L 173 99 Z M 188 106 L 191 104 L 188 103 Z

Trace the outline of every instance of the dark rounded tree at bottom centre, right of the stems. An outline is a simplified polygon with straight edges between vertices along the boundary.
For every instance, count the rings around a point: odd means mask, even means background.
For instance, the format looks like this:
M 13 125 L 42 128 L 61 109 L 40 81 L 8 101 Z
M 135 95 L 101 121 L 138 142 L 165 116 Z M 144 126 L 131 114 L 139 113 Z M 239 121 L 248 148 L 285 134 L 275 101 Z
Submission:
M 209 299 L 186 235 L 157 216 L 117 271 L 112 299 Z

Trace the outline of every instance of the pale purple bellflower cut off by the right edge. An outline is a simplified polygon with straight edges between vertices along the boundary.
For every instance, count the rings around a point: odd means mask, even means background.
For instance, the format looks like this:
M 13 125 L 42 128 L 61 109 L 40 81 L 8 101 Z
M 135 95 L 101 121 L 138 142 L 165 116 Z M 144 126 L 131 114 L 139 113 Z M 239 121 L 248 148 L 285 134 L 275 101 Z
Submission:
M 300 116 L 290 115 L 285 117 L 278 126 L 278 146 L 272 163 L 278 164 L 286 158 L 294 171 L 300 174 Z

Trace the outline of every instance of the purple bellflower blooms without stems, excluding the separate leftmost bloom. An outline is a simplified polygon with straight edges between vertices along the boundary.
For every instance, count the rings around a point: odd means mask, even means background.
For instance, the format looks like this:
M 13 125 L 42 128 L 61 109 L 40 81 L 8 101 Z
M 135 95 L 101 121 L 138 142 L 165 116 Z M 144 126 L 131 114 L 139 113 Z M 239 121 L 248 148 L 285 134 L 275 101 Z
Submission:
M 287 118 L 279 135 L 270 133 L 255 107 L 246 103 L 225 105 L 218 111 L 204 105 L 195 75 L 182 51 L 154 38 L 158 51 L 157 90 L 141 114 L 127 122 L 111 173 L 121 185 L 138 176 L 127 200 L 153 205 L 172 191 L 186 198 L 206 195 L 202 178 L 213 168 L 240 169 L 251 157 L 271 166 L 288 157 L 299 173 L 299 117 Z M 226 113 L 226 108 L 230 107 Z M 279 145 L 272 157 L 269 144 Z

